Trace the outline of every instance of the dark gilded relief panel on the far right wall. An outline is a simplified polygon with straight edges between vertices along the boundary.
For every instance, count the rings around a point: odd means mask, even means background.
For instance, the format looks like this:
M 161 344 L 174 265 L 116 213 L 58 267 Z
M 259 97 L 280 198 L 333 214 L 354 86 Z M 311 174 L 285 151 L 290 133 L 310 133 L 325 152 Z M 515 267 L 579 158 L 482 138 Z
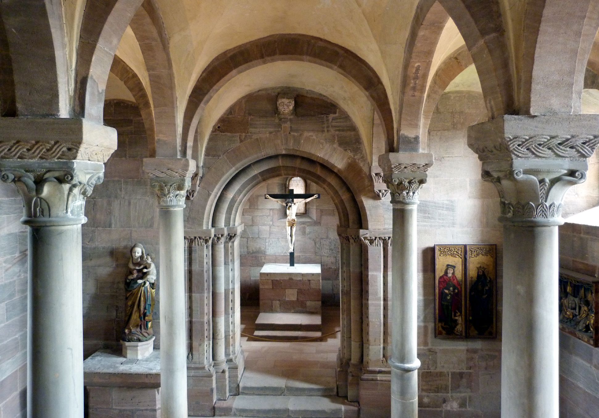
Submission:
M 559 269 L 559 329 L 599 347 L 599 279 Z

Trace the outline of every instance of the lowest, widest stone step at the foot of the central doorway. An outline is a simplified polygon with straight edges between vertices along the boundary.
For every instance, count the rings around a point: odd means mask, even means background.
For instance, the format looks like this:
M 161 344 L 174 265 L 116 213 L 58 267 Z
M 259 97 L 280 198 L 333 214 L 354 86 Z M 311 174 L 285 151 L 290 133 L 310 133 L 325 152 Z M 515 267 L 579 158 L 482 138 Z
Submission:
M 358 406 L 337 396 L 268 396 L 238 395 L 233 399 L 232 410 L 220 414 L 219 402 L 215 405 L 217 416 L 280 417 L 280 418 L 358 418 Z

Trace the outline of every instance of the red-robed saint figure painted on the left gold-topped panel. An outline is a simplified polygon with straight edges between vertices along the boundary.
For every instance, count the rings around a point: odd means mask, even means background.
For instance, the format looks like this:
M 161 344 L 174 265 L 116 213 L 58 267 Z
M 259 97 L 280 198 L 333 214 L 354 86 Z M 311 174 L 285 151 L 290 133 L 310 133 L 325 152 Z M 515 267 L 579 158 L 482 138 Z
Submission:
M 438 315 L 441 328 L 447 335 L 455 335 L 461 324 L 462 287 L 455 276 L 455 266 L 447 264 L 443 276 L 439 277 Z M 461 330 L 459 330 L 461 331 Z

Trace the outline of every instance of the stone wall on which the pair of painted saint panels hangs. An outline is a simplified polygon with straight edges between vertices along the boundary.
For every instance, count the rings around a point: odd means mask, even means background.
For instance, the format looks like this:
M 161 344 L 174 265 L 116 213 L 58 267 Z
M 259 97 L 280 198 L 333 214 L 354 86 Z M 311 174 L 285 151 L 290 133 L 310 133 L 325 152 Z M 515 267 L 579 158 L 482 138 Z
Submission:
M 500 204 L 480 178 L 481 164 L 467 146 L 466 129 L 486 119 L 482 94 L 441 96 L 429 126 L 435 164 L 418 207 L 419 408 L 423 417 L 498 418 L 501 403 Z M 434 337 L 434 245 L 497 244 L 497 340 Z M 463 279 L 463 277 L 462 277 Z

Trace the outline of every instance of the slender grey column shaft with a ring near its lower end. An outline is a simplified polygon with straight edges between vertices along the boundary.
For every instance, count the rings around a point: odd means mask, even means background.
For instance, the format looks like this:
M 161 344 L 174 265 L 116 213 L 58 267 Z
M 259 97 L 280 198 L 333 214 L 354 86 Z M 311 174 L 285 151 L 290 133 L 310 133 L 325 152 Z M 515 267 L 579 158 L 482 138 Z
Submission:
M 391 416 L 394 418 L 418 417 L 417 208 L 415 203 L 393 205 Z

